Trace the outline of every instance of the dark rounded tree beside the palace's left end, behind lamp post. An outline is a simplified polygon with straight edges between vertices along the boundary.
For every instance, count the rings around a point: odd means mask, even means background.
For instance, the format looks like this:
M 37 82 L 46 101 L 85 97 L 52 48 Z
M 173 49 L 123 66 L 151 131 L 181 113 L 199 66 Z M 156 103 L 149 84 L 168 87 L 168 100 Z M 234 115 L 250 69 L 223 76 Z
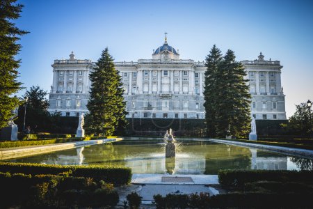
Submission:
M 33 131 L 46 130 L 51 125 L 53 116 L 47 111 L 49 102 L 46 98 L 47 91 L 44 91 L 39 86 L 31 86 L 23 95 L 23 98 L 28 98 L 26 103 L 26 125 L 30 126 Z M 22 127 L 24 123 L 25 102 L 19 106 L 19 118 L 17 124 Z

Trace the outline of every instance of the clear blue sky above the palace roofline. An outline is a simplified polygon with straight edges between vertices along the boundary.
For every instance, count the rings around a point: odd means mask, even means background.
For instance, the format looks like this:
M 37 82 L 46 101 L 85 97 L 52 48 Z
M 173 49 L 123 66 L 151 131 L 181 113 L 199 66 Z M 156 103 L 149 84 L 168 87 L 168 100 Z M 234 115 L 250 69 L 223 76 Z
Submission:
M 19 81 L 46 91 L 54 59 L 97 61 L 109 47 L 115 61 L 151 59 L 152 49 L 168 43 L 181 59 L 203 61 L 216 44 L 236 59 L 278 60 L 287 116 L 294 104 L 313 100 L 313 1 L 65 1 L 20 0 L 17 26 L 22 37 Z M 22 95 L 21 91 L 19 95 Z

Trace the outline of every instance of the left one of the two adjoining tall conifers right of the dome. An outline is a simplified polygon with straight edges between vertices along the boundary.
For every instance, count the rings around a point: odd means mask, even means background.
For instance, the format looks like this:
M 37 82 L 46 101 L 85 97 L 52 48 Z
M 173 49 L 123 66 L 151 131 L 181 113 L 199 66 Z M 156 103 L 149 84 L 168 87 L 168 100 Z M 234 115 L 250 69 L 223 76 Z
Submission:
M 218 81 L 216 74 L 218 72 L 218 65 L 222 61 L 222 54 L 220 49 L 214 45 L 210 51 L 210 54 L 206 58 L 207 71 L 204 73 L 204 109 L 205 118 L 207 123 L 207 134 L 209 137 L 216 137 L 215 129 L 215 105 L 214 102 L 218 99 L 216 91 L 216 82 Z

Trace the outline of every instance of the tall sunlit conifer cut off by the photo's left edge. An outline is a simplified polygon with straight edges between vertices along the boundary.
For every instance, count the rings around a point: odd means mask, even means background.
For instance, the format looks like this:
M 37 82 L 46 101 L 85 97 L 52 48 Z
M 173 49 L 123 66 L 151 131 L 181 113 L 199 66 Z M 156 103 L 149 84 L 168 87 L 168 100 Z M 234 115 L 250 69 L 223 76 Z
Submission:
M 19 99 L 12 96 L 22 85 L 17 82 L 20 60 L 15 59 L 22 46 L 16 42 L 18 36 L 28 33 L 11 22 L 20 17 L 23 8 L 21 4 L 13 3 L 15 0 L 0 1 L 0 128 L 6 127 L 13 117 L 11 112 L 19 106 Z

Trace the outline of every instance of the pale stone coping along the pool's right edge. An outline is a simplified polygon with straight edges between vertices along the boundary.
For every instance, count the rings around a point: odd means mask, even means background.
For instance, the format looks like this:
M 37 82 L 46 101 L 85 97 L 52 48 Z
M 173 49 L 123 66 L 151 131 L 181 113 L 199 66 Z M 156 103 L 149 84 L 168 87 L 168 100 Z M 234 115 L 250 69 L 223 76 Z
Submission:
M 258 149 L 263 149 L 263 150 L 271 150 L 276 153 L 296 155 L 298 157 L 307 157 L 307 158 L 313 159 L 313 150 L 306 150 L 306 149 L 301 149 L 301 148 L 289 148 L 289 147 L 284 147 L 284 146 L 272 146 L 272 145 L 266 145 L 266 144 L 252 144 L 248 142 L 227 141 L 227 140 L 220 140 L 220 139 L 199 139 L 199 140 L 213 141 L 213 142 L 222 143 L 222 144 L 232 144 L 236 146 L 244 146 L 244 147 L 250 147 L 250 148 L 258 148 Z

